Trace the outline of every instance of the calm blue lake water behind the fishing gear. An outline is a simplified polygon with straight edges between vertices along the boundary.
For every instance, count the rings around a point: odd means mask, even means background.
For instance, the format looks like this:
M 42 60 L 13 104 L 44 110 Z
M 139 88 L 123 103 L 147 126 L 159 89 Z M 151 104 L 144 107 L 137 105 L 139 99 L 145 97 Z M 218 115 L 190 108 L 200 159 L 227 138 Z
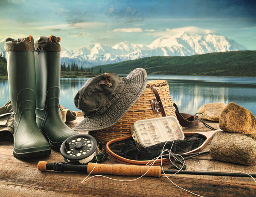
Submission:
M 79 111 L 73 99 L 89 78 L 61 78 L 60 103 Z M 256 78 L 148 75 L 148 80 L 167 80 L 172 100 L 181 112 L 195 114 L 207 103 L 234 102 L 256 115 Z M 8 81 L 0 81 L 0 107 L 9 97 Z

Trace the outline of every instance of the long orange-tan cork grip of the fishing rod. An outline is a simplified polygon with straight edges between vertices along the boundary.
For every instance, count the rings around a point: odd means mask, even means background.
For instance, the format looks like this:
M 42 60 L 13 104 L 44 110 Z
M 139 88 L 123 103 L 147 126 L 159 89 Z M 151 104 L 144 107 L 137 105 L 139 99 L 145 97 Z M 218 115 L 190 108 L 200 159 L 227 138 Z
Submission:
M 94 166 L 96 167 L 94 168 Z M 94 168 L 94 170 L 93 170 Z M 141 176 L 148 171 L 150 167 L 148 166 L 135 166 L 135 165 L 124 165 L 124 164 L 99 164 L 99 163 L 88 163 L 87 173 L 89 174 L 114 174 L 122 176 Z M 161 167 L 152 166 L 149 171 L 145 174 L 148 177 L 160 177 Z

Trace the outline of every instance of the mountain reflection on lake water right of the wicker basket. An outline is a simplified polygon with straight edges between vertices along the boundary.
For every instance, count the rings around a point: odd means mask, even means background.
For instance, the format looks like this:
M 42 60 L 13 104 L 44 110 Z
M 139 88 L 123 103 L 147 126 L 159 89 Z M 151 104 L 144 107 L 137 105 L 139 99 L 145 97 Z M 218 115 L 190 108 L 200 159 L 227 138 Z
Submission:
M 180 107 L 180 111 L 194 114 L 198 108 L 207 103 L 234 102 L 256 114 L 255 84 L 167 81 L 172 99 Z

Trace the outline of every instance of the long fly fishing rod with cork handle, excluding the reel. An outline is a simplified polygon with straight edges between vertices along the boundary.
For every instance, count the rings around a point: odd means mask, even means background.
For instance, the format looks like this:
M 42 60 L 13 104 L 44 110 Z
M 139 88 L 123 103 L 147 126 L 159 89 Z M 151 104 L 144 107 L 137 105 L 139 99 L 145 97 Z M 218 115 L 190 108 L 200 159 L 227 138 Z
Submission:
M 94 169 L 93 169 L 94 168 Z M 227 172 L 207 172 L 207 171 L 177 171 L 177 170 L 161 170 L 160 166 L 135 166 L 125 164 L 71 164 L 64 162 L 49 163 L 40 161 L 38 163 L 38 170 L 54 170 L 54 171 L 79 171 L 91 174 L 112 174 L 122 176 L 145 176 L 160 177 L 161 174 L 193 174 L 193 175 L 209 175 L 209 176 L 227 176 L 227 177 L 254 177 L 256 174 L 243 173 L 227 173 Z

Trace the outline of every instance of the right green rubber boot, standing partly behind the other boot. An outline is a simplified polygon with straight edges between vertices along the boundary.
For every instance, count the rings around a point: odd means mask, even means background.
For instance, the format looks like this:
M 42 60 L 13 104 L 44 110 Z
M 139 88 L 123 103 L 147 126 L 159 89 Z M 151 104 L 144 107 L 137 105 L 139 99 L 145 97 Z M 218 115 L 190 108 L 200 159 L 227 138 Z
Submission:
M 60 38 L 39 37 L 35 40 L 36 69 L 36 122 L 49 141 L 50 147 L 60 151 L 61 144 L 68 137 L 77 134 L 61 119 L 60 96 Z

